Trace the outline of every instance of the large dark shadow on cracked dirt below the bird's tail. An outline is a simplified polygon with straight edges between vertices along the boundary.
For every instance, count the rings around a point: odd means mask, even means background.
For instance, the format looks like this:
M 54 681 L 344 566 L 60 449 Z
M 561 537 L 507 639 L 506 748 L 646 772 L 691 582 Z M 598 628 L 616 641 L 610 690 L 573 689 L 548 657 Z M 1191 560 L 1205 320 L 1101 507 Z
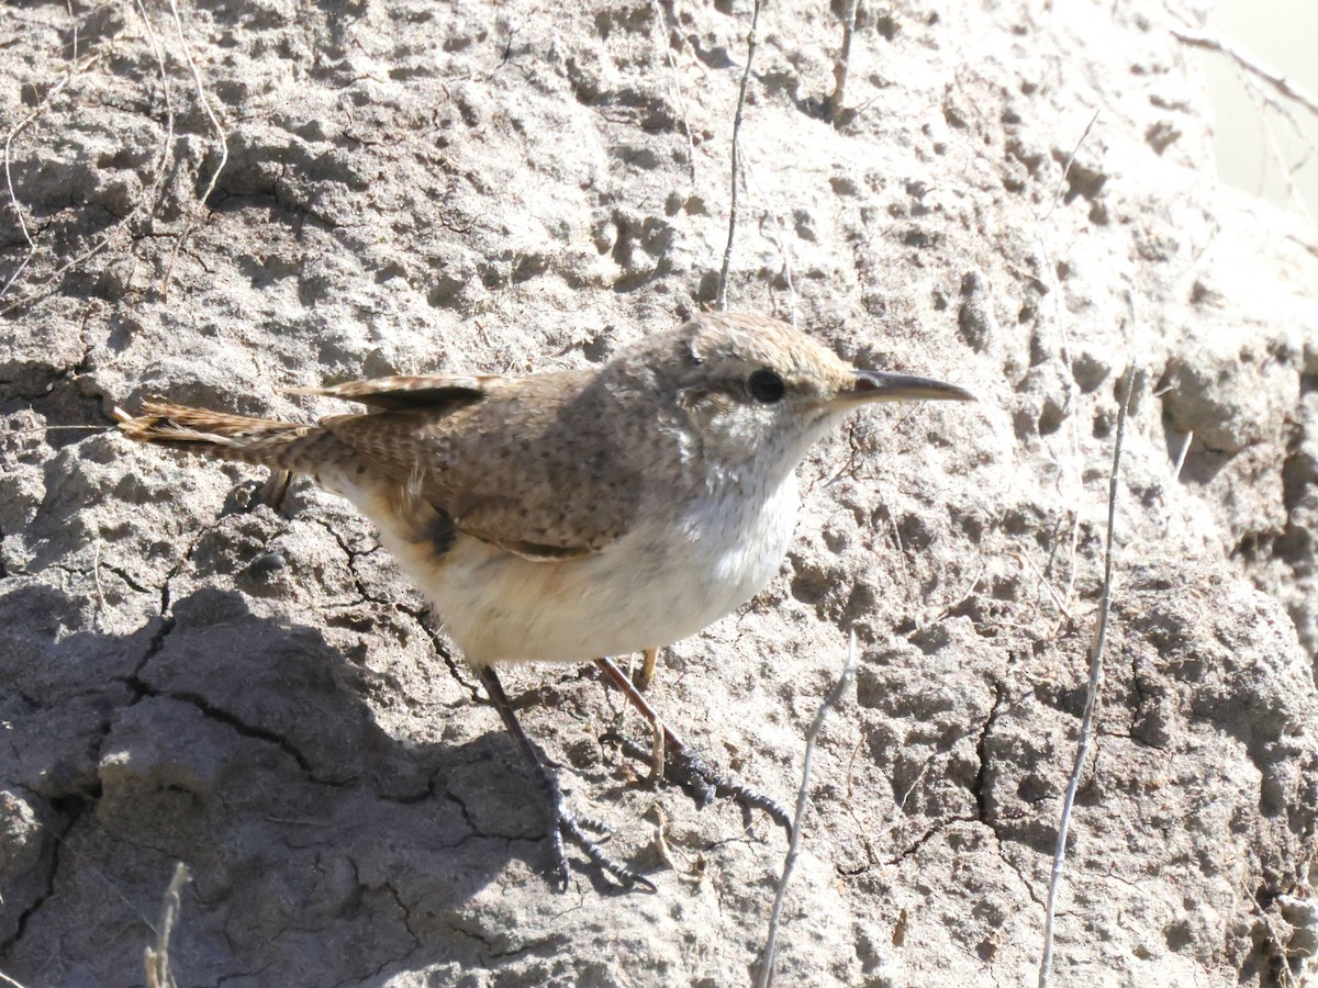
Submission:
M 14 794 L 7 814 L 30 823 L 0 855 L 0 966 L 18 981 L 140 984 L 175 862 L 194 877 L 171 942 L 187 984 L 485 967 L 490 946 L 459 929 L 464 905 L 513 859 L 529 892 L 552 896 L 540 806 L 502 728 L 453 744 L 390 736 L 360 667 L 235 591 L 203 589 L 170 618 L 104 635 L 66 634 L 86 602 L 57 588 L 3 589 L 0 786 Z M 478 709 L 463 698 L 435 717 Z M 88 943 L 69 950 L 74 927 Z

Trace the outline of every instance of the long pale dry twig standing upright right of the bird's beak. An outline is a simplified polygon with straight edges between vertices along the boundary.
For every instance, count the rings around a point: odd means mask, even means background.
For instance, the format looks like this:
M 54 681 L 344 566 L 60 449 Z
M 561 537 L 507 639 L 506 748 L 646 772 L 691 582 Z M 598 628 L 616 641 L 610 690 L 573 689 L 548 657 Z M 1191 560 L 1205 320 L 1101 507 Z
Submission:
M 1048 881 L 1048 905 L 1044 910 L 1044 954 L 1039 963 L 1039 988 L 1048 988 L 1053 966 L 1053 917 L 1057 906 L 1057 889 L 1061 887 L 1062 865 L 1066 862 L 1066 831 L 1070 829 L 1072 809 L 1075 805 L 1075 790 L 1079 789 L 1081 773 L 1089 755 L 1090 734 L 1094 723 L 1094 710 L 1098 706 L 1098 690 L 1103 677 L 1103 645 L 1107 643 L 1107 618 L 1112 603 L 1112 534 L 1116 530 L 1116 491 L 1120 487 L 1122 440 L 1126 437 L 1126 415 L 1131 407 L 1131 393 L 1135 390 L 1135 365 L 1126 370 L 1126 387 L 1122 407 L 1116 414 L 1116 439 L 1112 449 L 1112 473 L 1107 482 L 1107 543 L 1103 549 L 1103 595 L 1098 602 L 1098 622 L 1089 657 L 1089 690 L 1085 696 L 1085 714 L 1079 723 L 1079 738 L 1075 746 L 1075 764 L 1072 767 L 1066 797 L 1062 800 L 1061 821 L 1057 826 L 1057 847 L 1053 852 L 1053 871 Z

